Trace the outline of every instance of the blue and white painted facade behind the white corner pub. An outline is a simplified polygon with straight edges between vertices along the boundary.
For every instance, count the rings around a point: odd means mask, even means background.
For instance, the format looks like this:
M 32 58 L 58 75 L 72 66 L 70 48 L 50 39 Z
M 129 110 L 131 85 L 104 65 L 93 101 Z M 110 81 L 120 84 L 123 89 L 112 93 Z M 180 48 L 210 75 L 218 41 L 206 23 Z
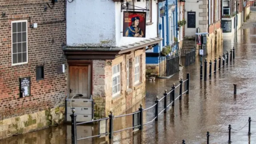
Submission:
M 151 50 L 146 50 L 146 64 L 158 64 L 164 46 L 172 45 L 172 52 L 177 52 L 178 43 L 174 45 L 174 37 L 178 38 L 178 0 L 158 2 L 158 36 L 162 42 Z M 164 14 L 160 14 L 164 9 Z M 154 54 L 152 54 L 154 53 Z

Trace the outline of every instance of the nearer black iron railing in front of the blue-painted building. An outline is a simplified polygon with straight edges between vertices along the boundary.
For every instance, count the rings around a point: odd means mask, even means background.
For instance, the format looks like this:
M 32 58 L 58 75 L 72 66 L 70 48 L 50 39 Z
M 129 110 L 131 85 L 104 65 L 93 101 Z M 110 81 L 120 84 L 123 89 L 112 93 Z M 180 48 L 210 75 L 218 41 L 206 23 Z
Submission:
M 159 58 L 159 76 L 170 77 L 180 70 L 180 56 L 178 54 L 171 57 Z

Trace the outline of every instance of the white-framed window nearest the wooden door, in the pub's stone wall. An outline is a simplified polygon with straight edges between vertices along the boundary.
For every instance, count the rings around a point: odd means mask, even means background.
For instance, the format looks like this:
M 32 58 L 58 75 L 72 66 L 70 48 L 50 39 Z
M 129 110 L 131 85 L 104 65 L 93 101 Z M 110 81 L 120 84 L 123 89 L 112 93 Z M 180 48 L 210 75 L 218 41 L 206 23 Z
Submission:
M 112 96 L 120 94 L 120 64 L 112 66 Z

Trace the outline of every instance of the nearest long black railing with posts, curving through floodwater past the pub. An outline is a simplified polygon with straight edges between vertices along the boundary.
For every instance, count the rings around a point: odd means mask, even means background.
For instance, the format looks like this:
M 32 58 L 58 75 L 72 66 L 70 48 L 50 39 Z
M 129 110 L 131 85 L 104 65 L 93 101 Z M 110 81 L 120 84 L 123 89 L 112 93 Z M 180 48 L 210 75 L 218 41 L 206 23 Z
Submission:
M 158 96 L 156 97 L 155 100 L 155 104 L 153 106 L 150 106 L 149 108 L 142 108 L 142 104 L 140 104 L 140 108 L 138 109 L 138 111 L 130 113 L 130 114 L 124 114 L 124 115 L 120 115 L 120 116 L 114 116 L 112 111 L 110 111 L 110 115 L 108 115 L 108 118 L 101 118 L 99 120 L 92 120 L 89 122 L 80 122 L 80 123 L 76 123 L 76 114 L 75 114 L 75 110 L 72 109 L 72 113 L 71 116 L 71 123 L 72 123 L 72 128 L 71 128 L 71 141 L 72 144 L 77 144 L 77 141 L 79 140 L 84 140 L 84 139 L 88 139 L 88 138 L 94 138 L 94 137 L 100 137 L 100 136 L 107 136 L 108 138 L 112 139 L 113 138 L 113 134 L 116 132 L 121 132 L 124 130 L 129 130 L 132 129 L 133 132 L 137 131 L 137 130 L 143 130 L 143 126 L 150 124 L 151 122 L 154 122 L 156 120 L 158 120 L 158 116 L 164 112 L 166 113 L 168 108 L 172 105 L 174 106 L 175 101 L 177 99 L 182 99 L 182 95 L 183 94 L 188 94 L 189 93 L 189 80 L 190 80 L 190 74 L 186 75 L 186 80 L 182 80 L 180 79 L 180 84 L 178 84 L 177 86 L 175 86 L 175 84 L 173 84 L 172 88 L 170 91 L 165 90 L 164 91 L 164 96 L 162 98 L 158 98 Z M 179 95 L 176 96 L 176 89 L 179 88 Z M 169 99 L 169 102 L 167 101 L 167 98 Z M 159 110 L 159 102 L 164 100 L 164 109 L 162 109 L 160 112 L 158 112 Z M 150 120 L 149 122 L 144 123 L 143 121 L 143 112 L 145 112 L 146 110 L 149 110 L 151 108 L 155 109 L 155 114 L 154 114 L 154 118 L 152 120 Z M 126 117 L 126 116 L 131 116 L 132 115 L 132 127 L 128 127 L 128 128 L 124 128 L 121 130 L 116 130 L 114 131 L 114 118 L 120 118 L 120 117 Z M 94 122 L 98 122 L 98 135 L 94 135 L 94 136 L 88 136 L 85 138 L 77 138 L 76 135 L 76 126 L 80 125 L 80 124 L 87 124 L 87 123 L 94 123 Z M 102 129 L 102 124 L 104 129 Z

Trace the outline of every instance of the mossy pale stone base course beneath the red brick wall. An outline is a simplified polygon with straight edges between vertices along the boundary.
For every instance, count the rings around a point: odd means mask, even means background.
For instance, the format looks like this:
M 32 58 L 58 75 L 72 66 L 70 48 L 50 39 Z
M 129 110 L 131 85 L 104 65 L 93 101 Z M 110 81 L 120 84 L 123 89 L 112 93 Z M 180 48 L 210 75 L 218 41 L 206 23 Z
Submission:
M 17 134 L 54 126 L 63 122 L 65 108 L 52 109 L 0 120 L 0 140 Z

